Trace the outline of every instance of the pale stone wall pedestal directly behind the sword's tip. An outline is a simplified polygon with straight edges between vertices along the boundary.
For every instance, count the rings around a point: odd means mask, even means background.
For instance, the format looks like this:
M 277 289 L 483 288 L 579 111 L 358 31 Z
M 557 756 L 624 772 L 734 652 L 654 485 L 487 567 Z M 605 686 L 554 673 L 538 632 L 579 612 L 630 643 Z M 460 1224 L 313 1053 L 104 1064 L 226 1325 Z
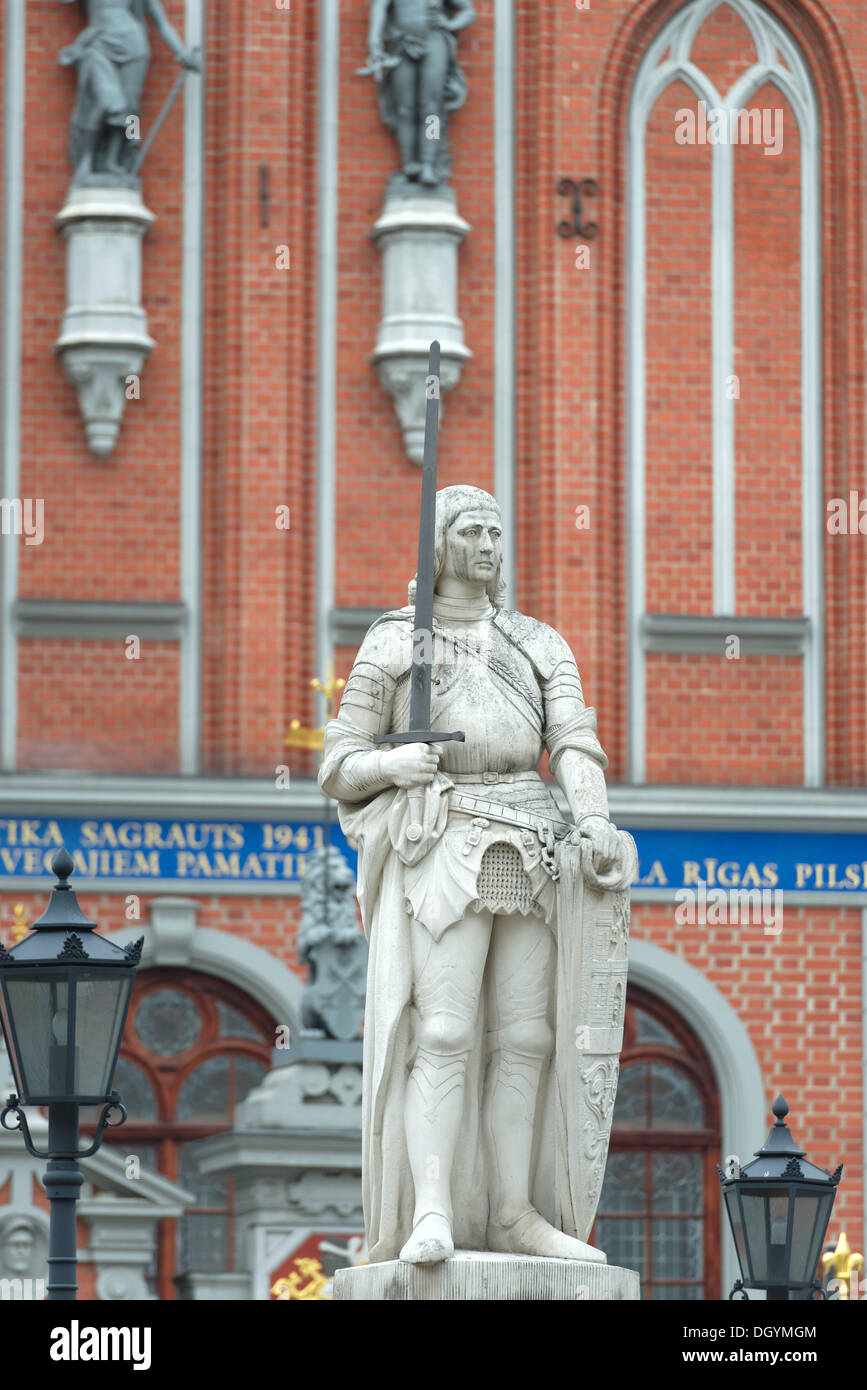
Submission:
M 371 235 L 382 254 L 382 321 L 375 363 L 395 402 L 403 443 L 413 463 L 424 456 L 428 353 L 440 345 L 442 395 L 459 381 L 470 349 L 457 317 L 457 249 L 470 231 L 454 193 L 389 193 Z

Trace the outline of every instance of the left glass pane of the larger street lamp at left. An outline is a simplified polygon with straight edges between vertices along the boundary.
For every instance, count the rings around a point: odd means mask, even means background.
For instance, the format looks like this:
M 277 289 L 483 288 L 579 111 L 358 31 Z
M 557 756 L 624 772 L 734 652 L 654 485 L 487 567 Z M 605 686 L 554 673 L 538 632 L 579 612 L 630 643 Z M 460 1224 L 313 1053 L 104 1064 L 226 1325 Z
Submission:
M 68 988 L 67 979 L 29 974 L 6 977 L 8 991 L 3 1026 L 15 1048 L 19 1073 L 15 1080 L 21 1099 L 31 1095 L 64 1095 L 67 1077 Z M 0 990 L 0 994 L 3 991 Z

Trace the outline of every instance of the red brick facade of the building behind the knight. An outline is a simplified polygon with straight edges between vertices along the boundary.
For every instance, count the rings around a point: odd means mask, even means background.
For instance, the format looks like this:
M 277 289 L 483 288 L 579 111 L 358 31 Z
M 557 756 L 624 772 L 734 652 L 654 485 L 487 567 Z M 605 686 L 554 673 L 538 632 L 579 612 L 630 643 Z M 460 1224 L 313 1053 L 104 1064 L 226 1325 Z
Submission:
M 649 42 L 681 0 L 515 4 L 517 299 L 515 606 L 570 641 L 596 706 L 609 783 L 629 776 L 631 546 L 628 495 L 628 104 Z M 167 13 L 183 31 L 183 4 Z M 799 44 L 820 115 L 823 496 L 867 495 L 864 471 L 863 92 L 867 19 L 856 0 L 767 0 Z M 317 304 L 321 292 L 317 96 L 321 7 L 296 0 L 206 3 L 201 776 L 293 787 L 311 755 L 286 749 L 290 719 L 317 721 L 317 520 L 333 507 L 335 603 L 406 603 L 415 569 L 420 471 L 406 457 L 370 354 L 381 317 L 381 257 L 370 238 L 396 165 L 364 64 L 367 0 L 339 19 L 336 227 L 336 491 L 317 495 Z M 21 496 L 44 498 L 46 539 L 18 546 L 21 599 L 181 599 L 181 311 L 183 120 L 179 101 L 149 156 L 143 197 L 157 221 L 143 245 L 143 304 L 157 346 L 129 400 L 114 452 L 89 453 L 75 392 L 53 346 L 65 261 L 53 218 L 68 185 L 74 99 L 57 50 L 78 7 L 26 4 L 24 275 L 21 284 Z M 477 0 L 460 36 L 468 100 L 450 122 L 452 183 L 470 225 L 459 253 L 459 311 L 472 352 L 446 398 L 439 485 L 493 486 L 496 395 L 495 0 Z M 4 17 L 0 14 L 0 42 Z M 175 65 L 153 36 L 143 125 Z M 742 21 L 722 7 L 693 58 L 720 90 L 750 63 Z M 200 81 L 196 75 L 190 82 Z M 735 596 L 741 617 L 802 613 L 802 352 L 799 189 L 802 142 L 771 86 L 750 106 L 784 111 L 778 157 L 734 152 Z M 646 612 L 713 613 L 711 149 L 678 145 L 677 82 L 657 100 L 646 142 Z M 263 167 L 267 168 L 264 175 Z M 560 238 L 563 177 L 597 181 L 589 267 Z M 267 204 L 263 179 L 267 178 Z M 288 268 L 278 268 L 288 247 Z M 6 346 L 10 352 L 10 346 Z M 289 530 L 275 524 L 290 507 Z M 589 525 L 577 509 L 589 507 Z M 825 619 L 825 781 L 867 783 L 867 538 L 821 532 Z M 3 545 L 10 542 L 3 538 Z M 509 567 L 509 557 L 506 559 Z M 509 578 L 509 573 L 506 574 Z M 22 637 L 15 767 L 147 778 L 181 774 L 181 660 L 165 639 Z M 335 648 L 346 676 L 354 649 Z M 649 652 L 646 781 L 654 787 L 800 788 L 800 656 Z M 782 796 L 781 796 L 782 801 Z M 11 815 L 7 809 L 0 815 Z M 36 815 L 32 803 L 21 813 Z M 42 810 L 42 815 L 50 815 Z M 232 819 L 231 803 L 225 815 Z M 289 819 L 304 819 L 293 812 Z M 689 824 L 689 821 L 686 821 Z M 768 826 L 767 828 L 777 828 Z M 820 827 L 821 828 L 821 827 Z M 849 827 L 857 828 L 857 827 Z M 860 826 L 864 831 L 864 826 Z M 745 831 L 748 834 L 748 831 Z M 861 856 L 867 859 L 867 851 Z M 33 891 L 4 890 L 26 920 Z M 182 892 L 182 888 L 178 888 Z M 124 891 L 83 892 L 104 930 L 124 924 Z M 147 920 L 149 895 L 143 894 Z M 867 898 L 864 899 L 867 901 Z M 845 1161 L 831 1234 L 864 1247 L 861 905 L 799 902 L 779 938 L 756 927 L 684 927 L 670 902 L 636 901 L 632 931 L 700 972 L 742 1020 L 770 1104 L 782 1091 L 809 1156 Z M 296 969 L 297 897 L 199 899 L 199 926 L 235 934 Z M 276 1020 L 281 1022 L 281 1020 Z M 756 1133 L 756 1147 L 764 1134 Z

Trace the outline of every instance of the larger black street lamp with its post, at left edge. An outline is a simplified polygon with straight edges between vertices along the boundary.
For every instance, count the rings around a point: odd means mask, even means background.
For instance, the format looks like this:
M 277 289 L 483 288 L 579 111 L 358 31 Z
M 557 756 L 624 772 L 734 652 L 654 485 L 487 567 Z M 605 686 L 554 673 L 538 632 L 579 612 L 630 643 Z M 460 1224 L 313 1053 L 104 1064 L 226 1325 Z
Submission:
M 49 1159 L 49 1298 L 72 1300 L 75 1202 L 83 1182 L 78 1159 L 96 1152 L 107 1125 L 126 1119 L 111 1081 L 144 937 L 126 948 L 106 941 L 67 883 L 74 865 L 65 849 L 54 855 L 51 869 L 57 883 L 31 934 L 11 951 L 0 944 L 0 1022 L 18 1088 L 0 1125 L 21 1130 L 28 1154 Z M 22 1105 L 47 1105 L 46 1152 L 35 1147 Z M 103 1106 L 96 1138 L 85 1150 L 78 1147 L 79 1105 Z M 119 1111 L 114 1122 L 113 1109 Z M 7 1125 L 10 1115 L 15 1125 Z

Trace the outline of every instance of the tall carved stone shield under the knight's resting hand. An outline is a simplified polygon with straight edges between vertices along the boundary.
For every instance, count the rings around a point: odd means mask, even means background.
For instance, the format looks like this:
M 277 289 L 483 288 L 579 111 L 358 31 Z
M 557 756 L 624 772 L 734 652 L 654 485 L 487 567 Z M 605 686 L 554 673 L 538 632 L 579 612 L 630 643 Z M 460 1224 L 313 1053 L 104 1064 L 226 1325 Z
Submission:
M 627 1002 L 629 881 L 635 845 L 621 831 L 628 877 L 592 872 L 589 845 L 560 847 L 557 891 L 557 1093 L 564 1223 L 588 1240 L 609 1154 Z M 624 883 L 625 880 L 625 883 Z

